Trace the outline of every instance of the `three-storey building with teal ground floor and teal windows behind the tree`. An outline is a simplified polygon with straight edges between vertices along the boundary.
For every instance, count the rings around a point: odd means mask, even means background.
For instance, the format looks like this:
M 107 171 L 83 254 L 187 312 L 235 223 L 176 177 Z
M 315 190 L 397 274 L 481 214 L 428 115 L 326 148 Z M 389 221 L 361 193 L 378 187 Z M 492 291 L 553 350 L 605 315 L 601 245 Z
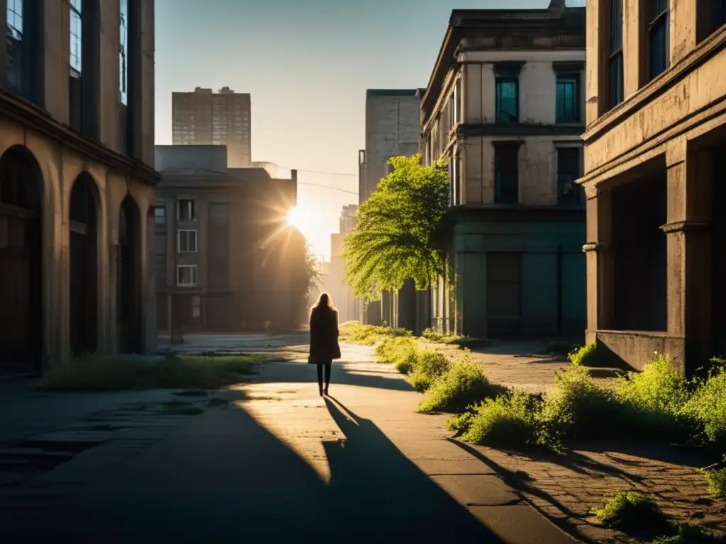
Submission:
M 421 98 L 424 164 L 449 161 L 453 288 L 428 308 L 472 337 L 584 329 L 584 8 L 454 10 Z

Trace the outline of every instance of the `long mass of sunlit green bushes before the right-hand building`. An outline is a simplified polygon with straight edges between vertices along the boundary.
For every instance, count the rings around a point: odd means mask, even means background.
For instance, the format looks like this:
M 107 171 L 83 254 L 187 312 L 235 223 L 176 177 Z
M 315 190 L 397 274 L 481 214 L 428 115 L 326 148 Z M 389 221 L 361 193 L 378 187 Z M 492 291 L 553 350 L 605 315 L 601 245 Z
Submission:
M 668 358 L 656 355 L 642 372 L 628 374 L 614 387 L 598 384 L 587 368 L 574 364 L 555 376 L 542 399 L 519 392 L 492 399 L 485 393 L 449 428 L 479 444 L 502 442 L 502 429 L 510 429 L 508 446 L 536 444 L 555 451 L 578 438 L 696 442 L 722 451 L 725 399 L 723 366 L 706 379 L 689 381 Z

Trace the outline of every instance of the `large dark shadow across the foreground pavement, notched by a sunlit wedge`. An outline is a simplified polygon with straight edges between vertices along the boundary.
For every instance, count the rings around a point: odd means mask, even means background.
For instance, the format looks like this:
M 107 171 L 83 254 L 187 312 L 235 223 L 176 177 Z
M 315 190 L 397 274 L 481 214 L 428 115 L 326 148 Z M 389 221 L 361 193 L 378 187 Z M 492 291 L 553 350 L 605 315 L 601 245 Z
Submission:
M 244 398 L 240 390 L 234 395 Z M 43 490 L 68 494 L 51 503 L 4 497 L 11 508 L 0 515 L 0 540 L 438 543 L 457 535 L 500 541 L 371 421 L 350 423 L 332 406 L 330 413 L 347 437 L 325 444 L 330 485 L 236 405 L 192 417 L 85 484 Z M 23 511 L 28 500 L 33 508 Z

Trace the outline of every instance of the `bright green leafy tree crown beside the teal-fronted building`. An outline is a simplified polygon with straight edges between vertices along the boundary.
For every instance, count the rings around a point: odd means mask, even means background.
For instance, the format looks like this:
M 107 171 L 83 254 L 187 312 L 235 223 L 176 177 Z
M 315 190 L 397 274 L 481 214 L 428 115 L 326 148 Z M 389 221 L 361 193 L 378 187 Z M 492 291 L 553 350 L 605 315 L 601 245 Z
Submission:
M 393 171 L 361 205 L 346 236 L 346 283 L 364 301 L 398 291 L 409 278 L 416 289 L 428 289 L 444 275 L 449 174 L 443 161 L 422 166 L 420 160 L 417 154 L 388 161 Z

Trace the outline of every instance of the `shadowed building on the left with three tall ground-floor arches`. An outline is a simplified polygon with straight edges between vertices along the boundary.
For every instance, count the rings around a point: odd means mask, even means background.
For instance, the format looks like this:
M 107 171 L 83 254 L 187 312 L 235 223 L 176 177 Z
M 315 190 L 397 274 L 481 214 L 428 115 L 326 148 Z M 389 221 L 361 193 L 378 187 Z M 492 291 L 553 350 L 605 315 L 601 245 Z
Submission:
M 1 16 L 0 371 L 155 351 L 153 3 Z

